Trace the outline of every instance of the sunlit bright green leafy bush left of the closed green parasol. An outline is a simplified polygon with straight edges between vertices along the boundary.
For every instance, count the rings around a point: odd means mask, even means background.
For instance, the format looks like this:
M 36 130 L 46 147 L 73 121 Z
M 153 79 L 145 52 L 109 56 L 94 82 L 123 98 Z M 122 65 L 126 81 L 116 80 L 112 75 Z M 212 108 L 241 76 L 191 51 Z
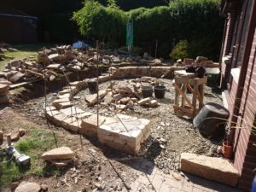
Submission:
M 124 43 L 126 15 L 117 7 L 103 7 L 86 1 L 84 8 L 74 13 L 73 20 L 83 35 L 93 35 L 102 41 Z

